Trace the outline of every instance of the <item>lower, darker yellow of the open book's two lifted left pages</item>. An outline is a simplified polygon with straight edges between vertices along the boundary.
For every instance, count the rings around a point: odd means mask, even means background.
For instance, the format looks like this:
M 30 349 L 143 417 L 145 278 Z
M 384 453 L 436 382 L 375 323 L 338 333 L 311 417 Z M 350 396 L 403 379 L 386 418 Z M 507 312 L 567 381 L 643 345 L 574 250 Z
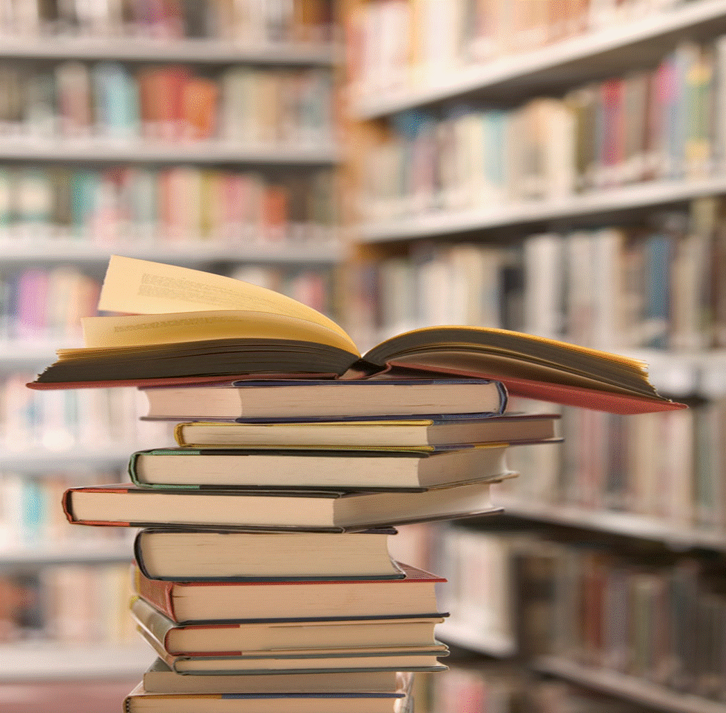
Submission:
M 171 314 L 133 314 L 81 319 L 88 347 L 113 348 L 208 339 L 295 339 L 351 351 L 351 342 L 307 319 L 272 312 L 209 310 Z M 355 349 L 353 346 L 352 349 Z M 356 351 L 353 351 L 357 354 Z

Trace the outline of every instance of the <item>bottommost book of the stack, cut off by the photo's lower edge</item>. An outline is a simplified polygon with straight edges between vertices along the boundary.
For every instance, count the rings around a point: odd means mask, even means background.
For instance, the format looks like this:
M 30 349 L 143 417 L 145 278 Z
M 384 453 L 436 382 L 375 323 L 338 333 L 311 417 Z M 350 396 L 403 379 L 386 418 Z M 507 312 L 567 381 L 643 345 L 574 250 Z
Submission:
M 123 701 L 124 713 L 396 713 L 396 693 L 150 693 L 143 683 Z

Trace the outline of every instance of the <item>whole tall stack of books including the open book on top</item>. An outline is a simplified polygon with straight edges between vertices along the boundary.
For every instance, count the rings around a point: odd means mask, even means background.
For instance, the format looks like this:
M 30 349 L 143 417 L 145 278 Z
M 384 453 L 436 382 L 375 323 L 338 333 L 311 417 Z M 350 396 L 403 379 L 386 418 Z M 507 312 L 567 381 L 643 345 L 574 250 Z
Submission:
M 361 359 L 289 298 L 144 261 L 112 258 L 99 309 L 127 315 L 86 319 L 86 346 L 32 386 L 134 383 L 178 423 L 178 448 L 131 456 L 131 484 L 64 497 L 71 522 L 144 528 L 131 612 L 159 660 L 128 712 L 405 710 L 396 673 L 445 668 L 444 580 L 387 537 L 490 512 L 509 444 L 555 439 L 555 416 L 505 415 L 507 386 L 680 407 L 639 362 L 502 330 L 420 330 Z

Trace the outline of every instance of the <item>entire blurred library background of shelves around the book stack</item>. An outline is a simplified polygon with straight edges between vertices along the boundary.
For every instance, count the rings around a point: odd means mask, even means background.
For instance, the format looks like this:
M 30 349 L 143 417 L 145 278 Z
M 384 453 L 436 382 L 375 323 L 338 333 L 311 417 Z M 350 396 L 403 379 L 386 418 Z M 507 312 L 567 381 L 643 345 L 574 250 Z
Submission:
M 505 516 L 392 539 L 449 579 L 417 712 L 725 713 L 722 195 L 723 0 L 0 0 L 0 709 L 117 710 L 153 658 L 134 532 L 60 495 L 171 433 L 134 391 L 25 388 L 119 253 L 362 351 L 468 324 L 648 362 L 690 410 L 565 410 Z

